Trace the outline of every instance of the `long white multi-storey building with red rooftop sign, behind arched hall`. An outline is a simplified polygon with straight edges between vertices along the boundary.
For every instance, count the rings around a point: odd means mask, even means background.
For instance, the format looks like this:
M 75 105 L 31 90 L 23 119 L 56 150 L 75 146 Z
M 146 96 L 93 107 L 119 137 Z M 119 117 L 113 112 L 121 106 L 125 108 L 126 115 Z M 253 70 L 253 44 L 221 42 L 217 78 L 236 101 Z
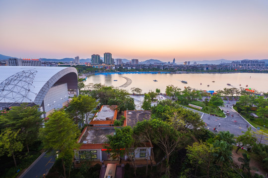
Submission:
M 17 59 L 9 58 L 5 60 L 7 66 L 42 66 L 39 59 Z

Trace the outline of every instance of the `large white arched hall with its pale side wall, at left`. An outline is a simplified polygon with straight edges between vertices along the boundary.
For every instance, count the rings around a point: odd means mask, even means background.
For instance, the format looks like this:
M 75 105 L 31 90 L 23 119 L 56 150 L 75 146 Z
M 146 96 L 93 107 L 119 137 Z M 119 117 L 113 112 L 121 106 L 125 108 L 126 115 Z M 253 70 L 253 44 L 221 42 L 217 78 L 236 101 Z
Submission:
M 0 66 L 0 107 L 39 105 L 47 117 L 68 103 L 68 90 L 77 90 L 73 67 Z

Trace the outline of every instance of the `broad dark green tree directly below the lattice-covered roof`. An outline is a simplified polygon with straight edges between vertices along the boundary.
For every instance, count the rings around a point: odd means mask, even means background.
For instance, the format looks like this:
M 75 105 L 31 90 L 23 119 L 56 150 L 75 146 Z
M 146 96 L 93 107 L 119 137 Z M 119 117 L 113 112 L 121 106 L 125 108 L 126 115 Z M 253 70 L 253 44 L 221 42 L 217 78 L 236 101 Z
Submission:
M 27 107 L 27 104 L 11 107 L 6 115 L 0 117 L 0 122 L 5 127 L 20 130 L 20 138 L 23 140 L 29 153 L 29 145 L 38 140 L 39 129 L 42 127 L 44 112 L 39 111 L 38 106 Z

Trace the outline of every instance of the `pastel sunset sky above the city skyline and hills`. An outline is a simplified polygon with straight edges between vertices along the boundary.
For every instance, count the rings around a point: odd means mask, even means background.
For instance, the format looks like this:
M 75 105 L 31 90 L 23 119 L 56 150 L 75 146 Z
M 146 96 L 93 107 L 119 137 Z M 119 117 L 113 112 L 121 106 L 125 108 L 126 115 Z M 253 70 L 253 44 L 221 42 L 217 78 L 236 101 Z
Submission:
M 268 59 L 268 0 L 0 0 L 0 54 Z

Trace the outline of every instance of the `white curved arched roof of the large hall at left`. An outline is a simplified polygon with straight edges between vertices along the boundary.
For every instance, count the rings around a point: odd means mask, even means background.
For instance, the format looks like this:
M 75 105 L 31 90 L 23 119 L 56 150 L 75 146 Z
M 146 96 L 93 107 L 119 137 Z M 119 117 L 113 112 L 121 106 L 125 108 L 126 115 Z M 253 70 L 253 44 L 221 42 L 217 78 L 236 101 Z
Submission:
M 64 83 L 72 82 L 69 86 L 77 89 L 74 67 L 0 66 L 0 106 L 22 102 L 41 105 L 48 90 L 60 79 Z

